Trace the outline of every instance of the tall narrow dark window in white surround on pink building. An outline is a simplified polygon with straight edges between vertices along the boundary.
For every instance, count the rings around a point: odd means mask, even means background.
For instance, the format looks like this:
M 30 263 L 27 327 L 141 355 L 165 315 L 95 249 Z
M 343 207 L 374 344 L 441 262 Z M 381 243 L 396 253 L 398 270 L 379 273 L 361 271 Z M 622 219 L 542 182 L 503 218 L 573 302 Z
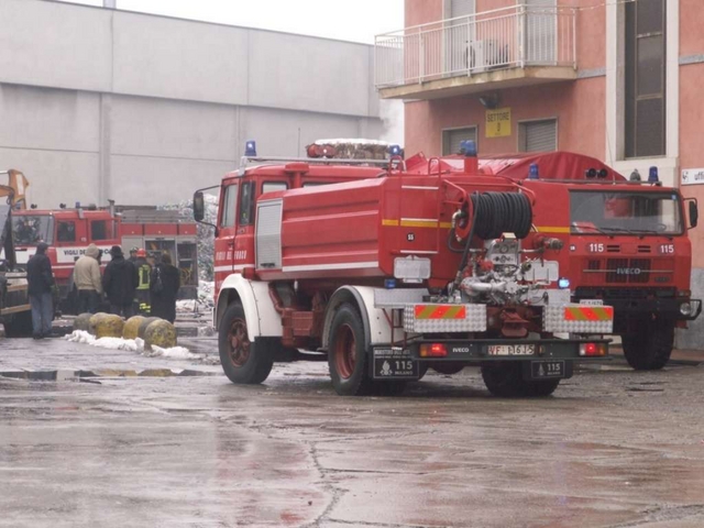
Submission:
M 666 154 L 666 1 L 626 8 L 626 157 Z

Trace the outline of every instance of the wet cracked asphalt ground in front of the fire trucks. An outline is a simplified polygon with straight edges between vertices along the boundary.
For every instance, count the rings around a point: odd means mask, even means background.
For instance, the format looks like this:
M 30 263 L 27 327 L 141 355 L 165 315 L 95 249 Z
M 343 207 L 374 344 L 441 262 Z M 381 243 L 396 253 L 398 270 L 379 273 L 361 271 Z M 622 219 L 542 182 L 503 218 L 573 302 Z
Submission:
M 704 526 L 695 363 L 344 398 L 324 363 L 235 386 L 215 340 L 182 344 L 205 358 L 0 338 L 0 527 Z

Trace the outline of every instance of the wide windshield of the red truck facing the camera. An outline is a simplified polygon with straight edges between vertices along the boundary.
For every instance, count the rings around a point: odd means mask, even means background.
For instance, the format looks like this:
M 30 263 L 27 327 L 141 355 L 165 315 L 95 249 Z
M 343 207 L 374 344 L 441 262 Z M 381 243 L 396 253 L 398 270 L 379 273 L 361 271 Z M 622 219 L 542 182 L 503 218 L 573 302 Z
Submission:
M 572 190 L 573 234 L 682 234 L 680 198 L 673 193 Z

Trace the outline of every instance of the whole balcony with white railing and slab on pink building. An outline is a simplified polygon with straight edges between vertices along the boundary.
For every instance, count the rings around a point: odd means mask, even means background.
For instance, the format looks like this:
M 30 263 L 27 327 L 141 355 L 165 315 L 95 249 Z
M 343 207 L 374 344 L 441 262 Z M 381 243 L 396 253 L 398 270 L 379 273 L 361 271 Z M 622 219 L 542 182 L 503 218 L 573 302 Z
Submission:
M 375 38 L 384 99 L 435 99 L 576 78 L 576 9 L 518 4 Z

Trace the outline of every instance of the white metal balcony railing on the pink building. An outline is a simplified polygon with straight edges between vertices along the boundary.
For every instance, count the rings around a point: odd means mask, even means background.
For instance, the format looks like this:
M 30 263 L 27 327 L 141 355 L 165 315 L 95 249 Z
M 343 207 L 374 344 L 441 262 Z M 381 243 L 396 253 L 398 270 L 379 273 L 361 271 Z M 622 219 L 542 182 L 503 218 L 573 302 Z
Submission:
M 576 68 L 576 9 L 518 4 L 377 35 L 377 88 L 527 66 Z

